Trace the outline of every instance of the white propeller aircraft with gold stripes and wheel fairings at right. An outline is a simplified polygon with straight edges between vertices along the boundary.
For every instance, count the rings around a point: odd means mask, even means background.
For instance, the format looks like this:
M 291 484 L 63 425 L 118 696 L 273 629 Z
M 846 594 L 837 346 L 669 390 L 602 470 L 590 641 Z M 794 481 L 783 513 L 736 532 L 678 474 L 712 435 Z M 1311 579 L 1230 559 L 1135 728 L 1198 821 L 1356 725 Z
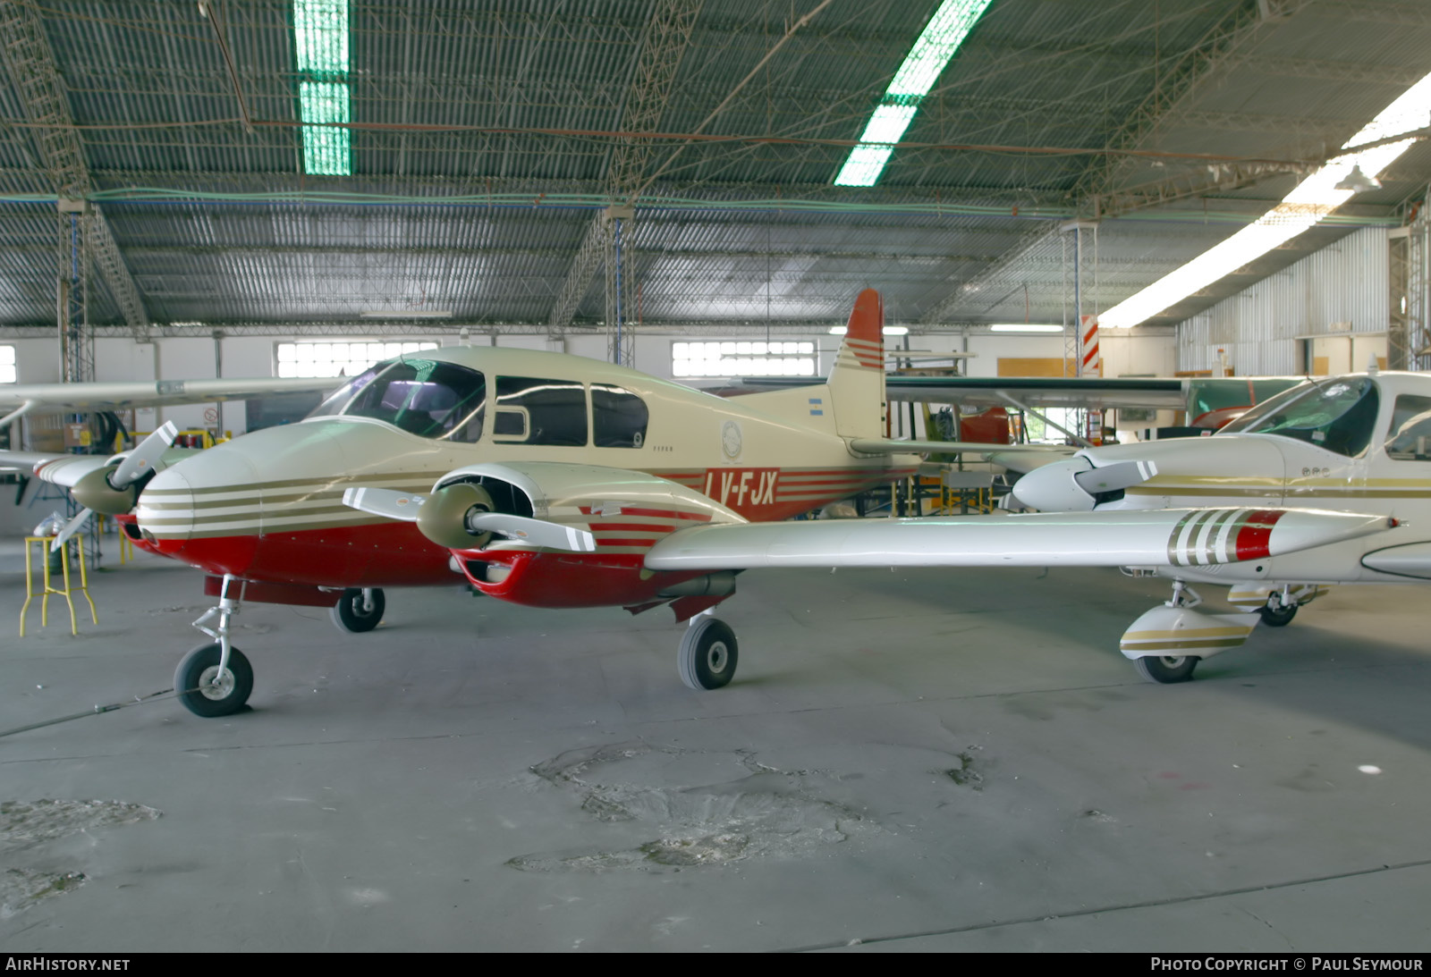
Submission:
M 1211 438 L 1179 438 L 1079 451 L 1037 468 L 1013 495 L 1045 512 L 1130 515 L 1212 506 L 1169 546 L 1169 559 L 1129 562 L 1130 572 L 1173 579 L 1168 604 L 1123 634 L 1122 651 L 1146 678 L 1181 682 L 1202 658 L 1242 645 L 1261 621 L 1291 622 L 1334 584 L 1431 579 L 1431 376 L 1367 373 L 1308 381 L 1255 406 Z M 1208 564 L 1198 546 L 1226 532 L 1232 505 L 1337 509 L 1395 519 L 1405 529 L 1269 555 Z M 1189 582 L 1229 584 L 1244 614 L 1195 611 Z

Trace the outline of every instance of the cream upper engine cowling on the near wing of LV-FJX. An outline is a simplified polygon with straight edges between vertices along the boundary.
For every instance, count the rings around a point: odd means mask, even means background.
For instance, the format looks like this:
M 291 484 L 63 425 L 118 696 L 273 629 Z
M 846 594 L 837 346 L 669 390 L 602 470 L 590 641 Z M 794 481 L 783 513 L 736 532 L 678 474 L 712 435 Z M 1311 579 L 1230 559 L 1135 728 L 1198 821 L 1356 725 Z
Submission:
M 418 528 L 449 549 L 529 546 L 521 541 L 494 542 L 492 534 L 474 532 L 468 521 L 478 512 L 504 512 L 582 529 L 592 521 L 637 516 L 643 536 L 665 535 L 690 525 L 746 522 L 695 489 L 658 475 L 564 462 L 492 462 L 444 475 L 418 511 Z

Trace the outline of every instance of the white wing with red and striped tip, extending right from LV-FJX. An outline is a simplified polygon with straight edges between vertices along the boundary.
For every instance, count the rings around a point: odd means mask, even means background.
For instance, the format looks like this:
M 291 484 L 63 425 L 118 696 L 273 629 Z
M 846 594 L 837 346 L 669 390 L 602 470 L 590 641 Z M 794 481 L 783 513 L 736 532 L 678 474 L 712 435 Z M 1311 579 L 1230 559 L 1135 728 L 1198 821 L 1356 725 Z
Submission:
M 1365 514 L 1246 508 L 751 522 L 673 532 L 647 552 L 645 565 L 1191 566 L 1266 559 L 1394 525 Z

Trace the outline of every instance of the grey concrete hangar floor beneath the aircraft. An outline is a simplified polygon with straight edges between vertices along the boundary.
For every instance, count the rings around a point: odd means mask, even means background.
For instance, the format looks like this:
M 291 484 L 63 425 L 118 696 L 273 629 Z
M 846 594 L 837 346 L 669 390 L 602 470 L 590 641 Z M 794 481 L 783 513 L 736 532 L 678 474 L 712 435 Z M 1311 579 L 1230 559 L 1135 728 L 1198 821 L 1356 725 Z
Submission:
M 193 571 L 92 589 L 99 625 L 52 602 L 20 639 L 0 549 L 0 727 L 200 644 Z M 1427 592 L 1334 591 L 1159 687 L 1116 647 L 1165 596 L 757 571 L 705 694 L 668 611 L 392 591 L 342 635 L 250 605 L 250 712 L 0 738 L 0 948 L 1431 950 Z

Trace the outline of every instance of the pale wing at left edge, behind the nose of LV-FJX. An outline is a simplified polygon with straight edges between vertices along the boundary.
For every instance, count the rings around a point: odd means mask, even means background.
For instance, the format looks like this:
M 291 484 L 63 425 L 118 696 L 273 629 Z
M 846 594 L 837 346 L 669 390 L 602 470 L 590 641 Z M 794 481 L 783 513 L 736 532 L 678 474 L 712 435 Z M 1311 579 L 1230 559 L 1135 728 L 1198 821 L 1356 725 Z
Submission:
M 114 383 L 6 383 L 0 386 L 0 413 L 29 405 L 26 413 L 126 411 L 245 401 L 269 393 L 331 391 L 345 378 L 316 379 L 215 379 L 215 381 L 126 381 Z

